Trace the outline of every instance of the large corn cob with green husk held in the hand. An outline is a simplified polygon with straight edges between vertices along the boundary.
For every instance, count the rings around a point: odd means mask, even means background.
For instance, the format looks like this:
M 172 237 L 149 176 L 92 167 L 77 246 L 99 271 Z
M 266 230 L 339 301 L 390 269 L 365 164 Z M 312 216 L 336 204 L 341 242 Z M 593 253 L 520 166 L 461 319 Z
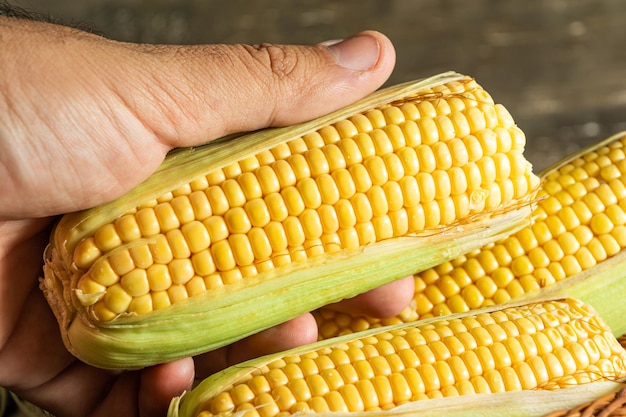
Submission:
M 524 142 L 474 80 L 446 73 L 179 150 L 60 221 L 43 288 L 93 365 L 211 350 L 519 229 L 538 186 Z

